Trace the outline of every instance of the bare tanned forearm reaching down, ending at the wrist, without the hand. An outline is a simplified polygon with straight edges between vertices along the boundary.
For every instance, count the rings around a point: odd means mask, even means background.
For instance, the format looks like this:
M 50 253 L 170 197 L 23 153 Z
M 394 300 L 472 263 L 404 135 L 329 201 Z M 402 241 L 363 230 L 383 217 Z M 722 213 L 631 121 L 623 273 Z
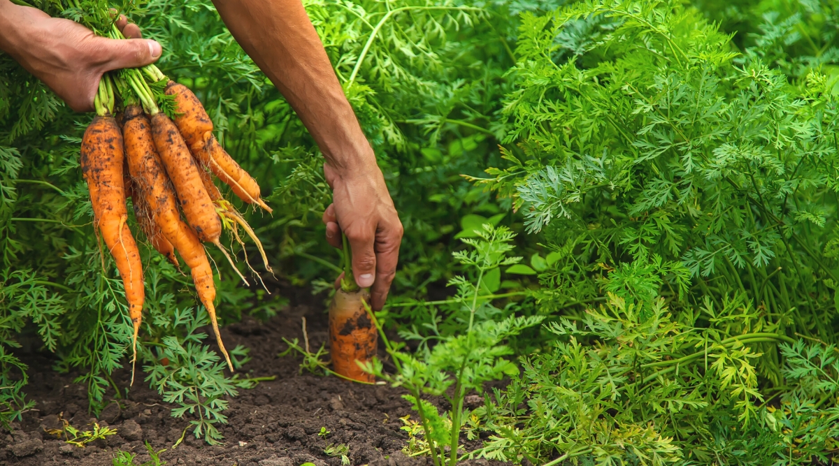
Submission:
M 339 176 L 375 164 L 300 0 L 214 0 L 227 28 L 268 76 Z

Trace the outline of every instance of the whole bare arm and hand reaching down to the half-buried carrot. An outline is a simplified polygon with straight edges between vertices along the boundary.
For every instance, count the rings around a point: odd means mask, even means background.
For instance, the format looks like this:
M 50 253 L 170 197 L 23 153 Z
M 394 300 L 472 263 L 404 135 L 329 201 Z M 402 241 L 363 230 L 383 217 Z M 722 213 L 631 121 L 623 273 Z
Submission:
M 358 286 L 382 308 L 396 272 L 402 224 L 373 149 L 332 70 L 300 0 L 213 0 L 242 49 L 274 82 L 326 157 L 332 205 L 326 239 L 352 248 Z

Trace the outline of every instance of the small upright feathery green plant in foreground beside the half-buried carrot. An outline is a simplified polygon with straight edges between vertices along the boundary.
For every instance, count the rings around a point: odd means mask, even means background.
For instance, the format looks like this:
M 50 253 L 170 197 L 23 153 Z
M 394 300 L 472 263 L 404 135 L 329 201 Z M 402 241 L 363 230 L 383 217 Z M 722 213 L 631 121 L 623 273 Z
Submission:
M 435 466 L 454 466 L 465 452 L 461 449 L 461 428 L 469 410 L 464 407 L 464 397 L 471 391 L 481 392 L 486 381 L 498 380 L 504 376 L 518 374 L 519 369 L 504 356 L 513 353 L 507 339 L 541 322 L 542 318 L 508 317 L 496 321 L 490 312 L 491 298 L 482 298 L 486 293 L 487 281 L 497 275 L 499 267 L 506 267 L 521 260 L 510 257 L 513 250 L 510 241 L 513 233 L 503 226 L 483 225 L 476 238 L 462 239 L 469 251 L 457 251 L 455 257 L 462 265 L 474 272 L 475 280 L 464 276 L 451 279 L 450 286 L 457 288 L 456 298 L 449 311 L 461 324 L 461 331 L 442 334 L 434 324 L 430 325 L 430 337 L 419 337 L 423 345 L 416 353 L 400 351 L 404 344 L 390 341 L 381 324 L 371 313 L 381 338 L 396 365 L 396 372 L 384 372 L 381 360 L 366 364 L 366 370 L 400 386 L 409 394 L 404 398 L 420 417 L 424 440 L 428 444 Z M 429 340 L 434 345 L 428 344 Z M 442 396 L 451 406 L 440 413 L 437 406 L 423 396 Z

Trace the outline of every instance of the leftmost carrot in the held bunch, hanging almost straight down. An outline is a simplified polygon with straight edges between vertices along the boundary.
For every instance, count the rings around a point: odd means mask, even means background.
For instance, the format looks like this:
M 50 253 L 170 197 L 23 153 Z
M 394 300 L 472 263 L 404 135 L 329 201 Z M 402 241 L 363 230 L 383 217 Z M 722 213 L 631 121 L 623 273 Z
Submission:
M 97 106 L 97 110 L 102 110 Z M 102 111 L 106 113 L 107 111 Z M 137 243 L 128 229 L 125 185 L 122 178 L 122 134 L 111 116 L 97 115 L 81 139 L 81 171 L 91 194 L 94 228 L 102 236 L 117 263 L 125 287 L 128 315 L 133 324 L 133 358 L 137 360 L 137 336 L 143 318 L 143 265 Z

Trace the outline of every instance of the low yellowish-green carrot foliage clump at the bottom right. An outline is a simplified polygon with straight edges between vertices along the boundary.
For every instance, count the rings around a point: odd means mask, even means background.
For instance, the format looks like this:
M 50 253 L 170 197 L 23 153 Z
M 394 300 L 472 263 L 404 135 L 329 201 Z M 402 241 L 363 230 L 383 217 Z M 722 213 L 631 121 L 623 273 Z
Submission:
M 550 464 L 826 461 L 839 433 L 839 411 L 823 407 L 836 390 L 835 349 L 771 331 L 744 300 L 706 305 L 674 316 L 663 299 L 611 295 L 579 323 L 550 324 L 553 349 L 525 358 L 524 374 L 482 408 L 497 434 L 477 454 Z M 710 314 L 720 324 L 697 329 Z M 728 333 L 732 324 L 743 330 Z M 775 344 L 787 358 L 780 407 L 755 367 L 759 349 Z

